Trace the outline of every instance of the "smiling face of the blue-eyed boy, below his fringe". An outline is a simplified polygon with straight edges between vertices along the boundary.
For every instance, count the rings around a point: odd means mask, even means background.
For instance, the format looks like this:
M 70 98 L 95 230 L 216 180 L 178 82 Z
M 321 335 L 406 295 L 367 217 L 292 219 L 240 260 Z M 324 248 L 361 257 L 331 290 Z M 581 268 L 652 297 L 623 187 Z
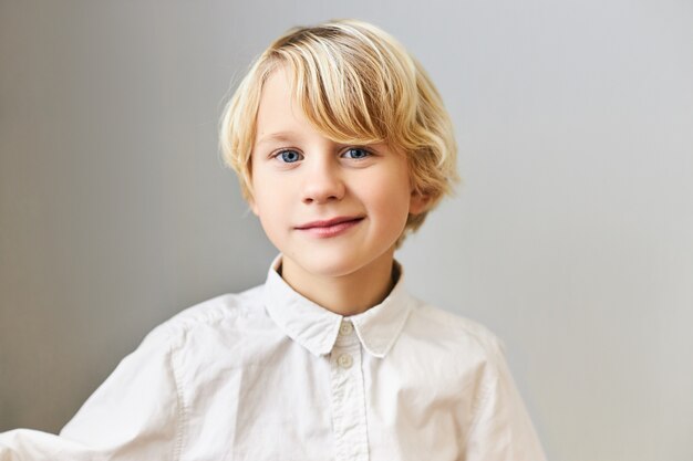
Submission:
M 407 214 L 425 207 L 406 158 L 384 144 L 325 138 L 290 91 L 282 69 L 265 83 L 251 159 L 251 208 L 285 266 L 337 277 L 391 261 Z

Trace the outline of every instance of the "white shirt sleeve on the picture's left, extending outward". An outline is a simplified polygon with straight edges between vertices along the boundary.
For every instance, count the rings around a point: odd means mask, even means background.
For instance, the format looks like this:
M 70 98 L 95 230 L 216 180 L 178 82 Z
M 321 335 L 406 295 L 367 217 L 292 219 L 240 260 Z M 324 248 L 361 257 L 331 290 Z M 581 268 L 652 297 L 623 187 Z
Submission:
M 118 364 L 59 436 L 0 433 L 0 461 L 178 459 L 182 405 L 175 345 L 164 326 Z

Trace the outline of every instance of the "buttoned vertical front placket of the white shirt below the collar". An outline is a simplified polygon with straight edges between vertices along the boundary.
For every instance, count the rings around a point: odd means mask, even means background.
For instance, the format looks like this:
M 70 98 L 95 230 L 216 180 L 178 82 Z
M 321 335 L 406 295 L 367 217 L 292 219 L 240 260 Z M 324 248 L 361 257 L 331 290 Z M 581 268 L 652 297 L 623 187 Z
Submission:
M 361 344 L 349 321 L 342 321 L 330 354 L 332 427 L 337 461 L 368 461 L 365 392 Z

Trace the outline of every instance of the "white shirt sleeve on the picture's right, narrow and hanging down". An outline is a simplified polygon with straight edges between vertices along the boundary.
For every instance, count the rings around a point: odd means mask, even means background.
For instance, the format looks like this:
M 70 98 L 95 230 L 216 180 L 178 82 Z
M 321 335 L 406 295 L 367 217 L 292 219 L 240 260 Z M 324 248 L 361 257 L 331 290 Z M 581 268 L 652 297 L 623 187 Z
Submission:
M 477 415 L 465 447 L 464 461 L 546 461 L 498 339 L 492 345 Z

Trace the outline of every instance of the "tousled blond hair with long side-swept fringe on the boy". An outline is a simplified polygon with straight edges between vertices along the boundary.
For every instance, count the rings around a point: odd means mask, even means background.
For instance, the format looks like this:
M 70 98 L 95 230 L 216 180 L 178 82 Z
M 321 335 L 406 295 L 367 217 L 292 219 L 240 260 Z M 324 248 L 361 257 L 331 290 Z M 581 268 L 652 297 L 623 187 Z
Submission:
M 292 75 L 292 93 L 308 121 L 341 144 L 387 145 L 406 155 L 412 187 L 426 210 L 410 214 L 416 230 L 459 180 L 452 122 L 421 64 L 390 34 L 356 20 L 294 28 L 256 59 L 220 122 L 225 163 L 252 200 L 251 154 L 262 85 L 278 67 Z

